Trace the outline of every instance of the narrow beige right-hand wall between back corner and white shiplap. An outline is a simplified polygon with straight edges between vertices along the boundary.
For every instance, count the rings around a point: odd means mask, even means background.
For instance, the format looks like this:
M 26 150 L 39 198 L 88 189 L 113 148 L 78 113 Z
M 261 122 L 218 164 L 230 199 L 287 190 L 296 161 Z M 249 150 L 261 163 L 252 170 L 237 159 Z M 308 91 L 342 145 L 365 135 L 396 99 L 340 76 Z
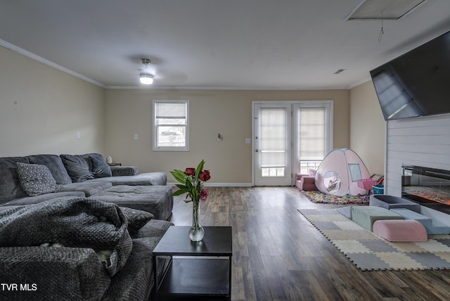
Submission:
M 371 81 L 350 90 L 350 148 L 371 174 L 385 174 L 385 120 Z

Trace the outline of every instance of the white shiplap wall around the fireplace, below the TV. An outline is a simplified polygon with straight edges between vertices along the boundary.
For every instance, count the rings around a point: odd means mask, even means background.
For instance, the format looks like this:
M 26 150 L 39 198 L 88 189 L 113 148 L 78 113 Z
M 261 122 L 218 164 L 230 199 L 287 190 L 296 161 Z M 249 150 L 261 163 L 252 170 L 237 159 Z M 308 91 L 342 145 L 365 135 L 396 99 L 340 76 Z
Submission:
M 401 166 L 450 170 L 450 114 L 387 122 L 385 194 L 401 196 Z

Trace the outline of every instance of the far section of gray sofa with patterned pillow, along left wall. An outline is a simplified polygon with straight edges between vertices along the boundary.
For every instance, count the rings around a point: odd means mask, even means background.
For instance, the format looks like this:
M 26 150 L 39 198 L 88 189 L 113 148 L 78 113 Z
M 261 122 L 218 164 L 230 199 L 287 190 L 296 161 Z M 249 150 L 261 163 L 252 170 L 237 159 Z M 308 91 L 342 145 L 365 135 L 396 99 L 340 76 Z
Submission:
M 48 169 L 48 170 L 47 170 Z M 50 172 L 50 174 L 49 174 Z M 103 155 L 29 155 L 0 158 L 0 210 L 63 196 L 96 198 L 168 219 L 172 188 L 164 172 L 109 167 Z

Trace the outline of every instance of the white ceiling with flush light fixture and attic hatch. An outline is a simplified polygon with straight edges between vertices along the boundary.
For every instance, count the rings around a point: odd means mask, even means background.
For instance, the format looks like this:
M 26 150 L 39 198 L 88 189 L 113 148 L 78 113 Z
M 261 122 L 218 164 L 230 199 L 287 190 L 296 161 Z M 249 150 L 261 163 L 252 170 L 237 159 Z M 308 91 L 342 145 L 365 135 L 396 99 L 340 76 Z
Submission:
M 102 87 L 141 87 L 150 58 L 150 89 L 347 89 L 450 30 L 450 1 L 428 0 L 378 41 L 380 20 L 346 21 L 361 2 L 1 0 L 0 42 Z

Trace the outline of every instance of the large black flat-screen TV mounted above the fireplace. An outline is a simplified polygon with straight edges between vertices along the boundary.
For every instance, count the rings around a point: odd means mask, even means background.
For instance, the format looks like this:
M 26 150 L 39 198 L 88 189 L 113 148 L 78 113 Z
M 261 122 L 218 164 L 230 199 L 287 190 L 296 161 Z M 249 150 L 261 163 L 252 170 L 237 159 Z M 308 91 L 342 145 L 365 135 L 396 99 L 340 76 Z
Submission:
M 371 70 L 385 120 L 450 113 L 450 32 Z

